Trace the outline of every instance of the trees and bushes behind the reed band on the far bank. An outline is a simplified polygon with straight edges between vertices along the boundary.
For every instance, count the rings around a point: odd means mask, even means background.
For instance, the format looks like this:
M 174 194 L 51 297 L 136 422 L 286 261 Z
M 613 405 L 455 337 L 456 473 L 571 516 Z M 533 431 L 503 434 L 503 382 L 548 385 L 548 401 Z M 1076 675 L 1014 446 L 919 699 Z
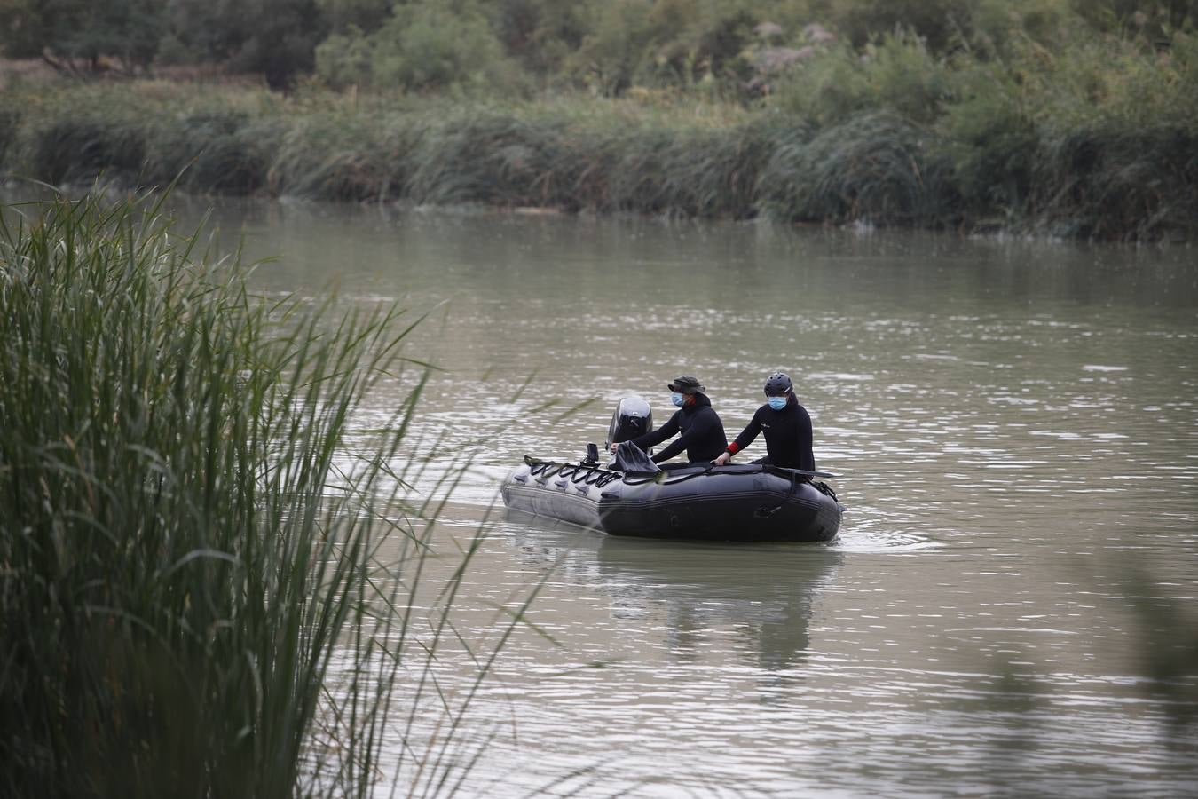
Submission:
M 1196 18 L 1193 0 L 0 0 L 0 49 L 80 71 L 218 63 L 272 87 L 315 68 L 405 90 L 738 93 L 829 41 L 906 31 L 996 56 L 1063 26 L 1160 44 Z

